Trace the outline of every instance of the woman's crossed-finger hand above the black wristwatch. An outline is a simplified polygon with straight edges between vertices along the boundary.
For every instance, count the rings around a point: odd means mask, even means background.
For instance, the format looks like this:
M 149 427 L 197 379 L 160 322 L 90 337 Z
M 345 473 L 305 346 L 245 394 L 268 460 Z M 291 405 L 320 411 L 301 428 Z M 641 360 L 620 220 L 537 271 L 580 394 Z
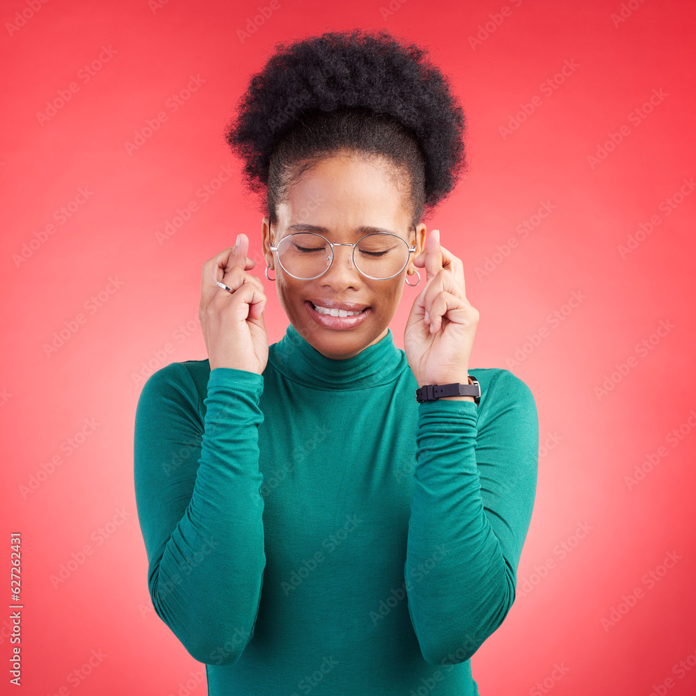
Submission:
M 479 313 L 466 299 L 464 264 L 440 246 L 440 230 L 430 232 L 424 251 L 413 263 L 425 267 L 427 274 L 404 332 L 406 358 L 413 376 L 419 387 L 466 384 Z

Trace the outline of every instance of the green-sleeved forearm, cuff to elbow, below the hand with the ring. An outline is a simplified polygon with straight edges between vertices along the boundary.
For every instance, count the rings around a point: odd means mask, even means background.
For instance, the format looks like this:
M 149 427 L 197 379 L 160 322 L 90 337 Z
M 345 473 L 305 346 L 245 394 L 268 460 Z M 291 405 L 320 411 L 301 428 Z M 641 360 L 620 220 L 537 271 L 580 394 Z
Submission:
M 203 437 L 189 452 L 198 460 L 193 491 L 184 514 L 169 523 L 173 531 L 149 578 L 161 619 L 198 661 L 218 664 L 221 648 L 227 644 L 224 662 L 233 663 L 250 638 L 266 562 L 258 380 L 237 372 L 210 373 Z M 163 493 L 186 496 L 186 481 L 172 478 Z

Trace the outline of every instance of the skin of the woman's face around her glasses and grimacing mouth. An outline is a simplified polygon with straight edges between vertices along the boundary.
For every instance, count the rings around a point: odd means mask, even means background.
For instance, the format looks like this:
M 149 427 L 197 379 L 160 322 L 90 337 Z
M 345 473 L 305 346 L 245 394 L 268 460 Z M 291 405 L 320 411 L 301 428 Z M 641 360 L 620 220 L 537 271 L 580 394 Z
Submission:
M 367 160 L 350 154 L 326 157 L 289 187 L 286 200 L 278 205 L 278 225 L 271 229 L 268 217 L 262 221 L 263 253 L 276 273 L 280 305 L 297 332 L 327 358 L 351 358 L 386 336 L 404 290 L 406 272 L 415 269 L 413 258 L 425 244 L 424 223 L 409 234 L 409 212 L 402 200 L 406 182 L 402 180 L 401 190 L 397 189 L 394 175 L 386 159 Z M 299 280 L 283 271 L 269 248 L 271 240 L 277 245 L 283 237 L 302 231 L 292 229 L 296 225 L 315 226 L 317 229 L 304 231 L 346 244 L 373 231 L 360 228 L 381 228 L 403 237 L 409 246 L 415 244 L 416 252 L 409 254 L 406 268 L 394 278 L 372 280 L 354 267 L 350 247 L 335 246 L 333 263 L 326 273 L 313 280 Z M 310 304 L 322 300 L 354 302 L 369 309 L 356 326 L 330 328 L 321 323 Z

